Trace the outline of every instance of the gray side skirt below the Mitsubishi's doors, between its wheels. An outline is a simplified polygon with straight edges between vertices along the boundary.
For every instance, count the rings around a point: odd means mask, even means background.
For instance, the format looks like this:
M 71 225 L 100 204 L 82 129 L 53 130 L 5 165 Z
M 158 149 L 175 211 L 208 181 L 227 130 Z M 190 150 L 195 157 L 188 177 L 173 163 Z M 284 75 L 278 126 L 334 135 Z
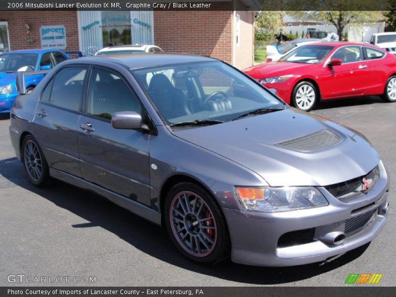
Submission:
M 143 204 L 136 202 L 134 200 L 125 198 L 119 194 L 116 194 L 116 193 L 106 190 L 102 187 L 99 187 L 98 185 L 94 185 L 94 184 L 89 183 L 79 177 L 65 173 L 63 171 L 59 171 L 57 169 L 49 168 L 49 175 L 52 176 L 53 178 L 56 178 L 58 180 L 66 182 L 68 184 L 77 186 L 79 188 L 91 190 L 91 191 L 99 194 L 100 196 L 103 196 L 103 197 L 109 199 L 111 202 L 113 202 L 125 209 L 128 209 L 129 211 L 133 212 L 134 214 L 137 214 L 138 216 L 141 216 L 152 223 L 161 225 L 161 215 L 157 211 L 149 208 L 146 205 L 143 205 Z

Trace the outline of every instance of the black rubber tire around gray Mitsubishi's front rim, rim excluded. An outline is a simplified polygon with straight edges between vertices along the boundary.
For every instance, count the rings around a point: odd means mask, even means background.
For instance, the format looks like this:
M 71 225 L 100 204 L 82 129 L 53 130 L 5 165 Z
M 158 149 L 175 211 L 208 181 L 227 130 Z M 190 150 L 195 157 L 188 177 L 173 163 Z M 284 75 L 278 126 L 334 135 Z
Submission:
M 207 206 L 210 208 L 210 211 L 213 214 L 214 220 L 216 222 L 216 244 L 213 251 L 204 257 L 195 257 L 194 255 L 189 254 L 187 251 L 184 250 L 183 247 L 180 246 L 178 240 L 175 238 L 169 217 L 170 212 L 170 205 L 172 203 L 173 198 L 179 194 L 180 192 L 189 191 L 197 194 L 200 198 L 202 198 Z M 220 210 L 220 207 L 217 205 L 216 201 L 212 195 L 210 195 L 206 190 L 202 189 L 200 186 L 193 184 L 193 183 L 180 183 L 174 186 L 166 196 L 165 203 L 164 203 L 164 222 L 166 226 L 166 230 L 172 241 L 173 245 L 177 248 L 179 252 L 183 255 L 188 257 L 190 260 L 195 262 L 199 262 L 201 264 L 214 264 L 223 260 L 224 258 L 229 256 L 229 248 L 230 248 L 230 240 L 229 240 L 229 233 L 227 224 L 225 223 L 224 216 Z

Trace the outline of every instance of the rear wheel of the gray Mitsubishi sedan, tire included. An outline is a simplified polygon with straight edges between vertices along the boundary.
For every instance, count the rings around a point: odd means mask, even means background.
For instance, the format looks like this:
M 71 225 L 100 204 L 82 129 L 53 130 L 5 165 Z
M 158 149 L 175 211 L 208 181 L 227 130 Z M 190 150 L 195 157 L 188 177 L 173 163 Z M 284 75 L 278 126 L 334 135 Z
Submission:
M 21 157 L 29 181 L 37 187 L 46 185 L 50 180 L 49 167 L 43 151 L 32 135 L 23 139 Z

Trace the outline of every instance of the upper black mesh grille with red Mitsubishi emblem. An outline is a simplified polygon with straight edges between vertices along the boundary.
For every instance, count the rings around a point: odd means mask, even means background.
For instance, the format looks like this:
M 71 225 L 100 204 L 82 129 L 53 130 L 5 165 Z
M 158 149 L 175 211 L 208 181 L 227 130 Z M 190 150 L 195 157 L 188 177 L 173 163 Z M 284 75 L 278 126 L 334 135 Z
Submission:
M 374 187 L 379 177 L 380 169 L 377 166 L 364 176 L 360 176 L 346 182 L 327 186 L 325 187 L 325 189 L 329 191 L 329 193 L 335 198 L 343 200 L 347 197 L 352 197 L 360 193 L 367 193 Z M 364 181 L 366 181 L 366 183 Z M 369 185 L 369 187 L 367 187 L 367 185 Z

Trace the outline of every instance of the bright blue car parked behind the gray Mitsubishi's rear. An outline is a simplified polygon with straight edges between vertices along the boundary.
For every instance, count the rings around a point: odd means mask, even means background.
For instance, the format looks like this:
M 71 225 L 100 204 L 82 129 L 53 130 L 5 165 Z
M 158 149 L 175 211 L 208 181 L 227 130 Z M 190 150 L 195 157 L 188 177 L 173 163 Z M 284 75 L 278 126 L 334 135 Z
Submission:
M 0 55 L 0 113 L 9 112 L 18 95 L 15 87 L 18 71 L 50 70 L 67 59 L 70 57 L 57 49 L 15 50 Z M 44 74 L 26 76 L 27 92 L 31 92 L 43 77 Z

